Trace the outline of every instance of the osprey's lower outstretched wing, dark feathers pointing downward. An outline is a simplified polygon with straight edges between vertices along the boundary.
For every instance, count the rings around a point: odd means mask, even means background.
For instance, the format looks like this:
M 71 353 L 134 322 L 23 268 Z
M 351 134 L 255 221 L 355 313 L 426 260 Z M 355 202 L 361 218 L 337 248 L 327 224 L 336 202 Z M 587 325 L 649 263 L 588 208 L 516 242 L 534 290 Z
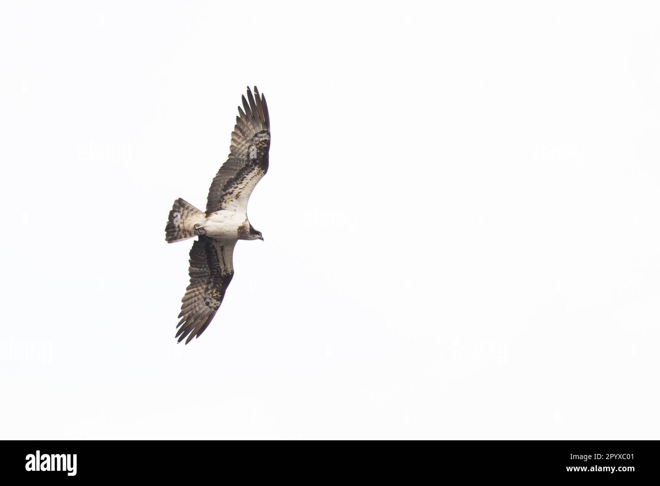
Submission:
M 234 246 L 236 242 L 221 242 L 207 236 L 199 236 L 190 250 L 190 285 L 181 299 L 182 320 L 176 337 L 178 342 L 189 343 L 201 335 L 211 324 L 213 316 L 222 304 L 224 293 L 234 277 Z

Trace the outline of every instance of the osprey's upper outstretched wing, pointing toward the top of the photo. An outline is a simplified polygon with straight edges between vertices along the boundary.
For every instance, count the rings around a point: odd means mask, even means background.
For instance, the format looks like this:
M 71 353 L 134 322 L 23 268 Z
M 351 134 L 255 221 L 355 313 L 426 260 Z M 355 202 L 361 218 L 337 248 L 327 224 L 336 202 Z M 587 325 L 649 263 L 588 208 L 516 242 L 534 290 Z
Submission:
M 263 94 L 248 87 L 248 99 L 243 96 L 243 108 L 238 107 L 236 126 L 232 131 L 232 145 L 227 161 L 213 178 L 207 200 L 207 215 L 230 209 L 247 213 L 252 190 L 268 170 L 268 149 L 271 129 L 268 106 Z

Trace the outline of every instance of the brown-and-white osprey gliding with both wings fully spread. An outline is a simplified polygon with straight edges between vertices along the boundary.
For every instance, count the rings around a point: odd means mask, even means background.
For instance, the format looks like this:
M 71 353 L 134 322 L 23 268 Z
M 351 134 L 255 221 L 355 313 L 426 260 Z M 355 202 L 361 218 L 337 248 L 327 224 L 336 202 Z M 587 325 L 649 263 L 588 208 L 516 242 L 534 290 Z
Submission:
M 206 212 L 177 199 L 165 227 L 168 243 L 199 236 L 190 250 L 190 285 L 182 298 L 178 342 L 189 343 L 211 324 L 234 276 L 232 256 L 238 240 L 263 240 L 248 220 L 248 199 L 268 170 L 271 130 L 266 98 L 248 87 L 248 99 L 232 131 L 227 161 L 215 174 Z

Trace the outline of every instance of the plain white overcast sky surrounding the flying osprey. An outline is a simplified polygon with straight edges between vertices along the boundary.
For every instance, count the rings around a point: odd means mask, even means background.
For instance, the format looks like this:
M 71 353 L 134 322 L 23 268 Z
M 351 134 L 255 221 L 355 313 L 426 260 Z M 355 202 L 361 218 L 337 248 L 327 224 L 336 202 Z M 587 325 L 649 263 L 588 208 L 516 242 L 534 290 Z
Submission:
M 658 438 L 653 3 L 0 6 L 0 438 Z M 174 339 L 246 85 L 273 143 Z

